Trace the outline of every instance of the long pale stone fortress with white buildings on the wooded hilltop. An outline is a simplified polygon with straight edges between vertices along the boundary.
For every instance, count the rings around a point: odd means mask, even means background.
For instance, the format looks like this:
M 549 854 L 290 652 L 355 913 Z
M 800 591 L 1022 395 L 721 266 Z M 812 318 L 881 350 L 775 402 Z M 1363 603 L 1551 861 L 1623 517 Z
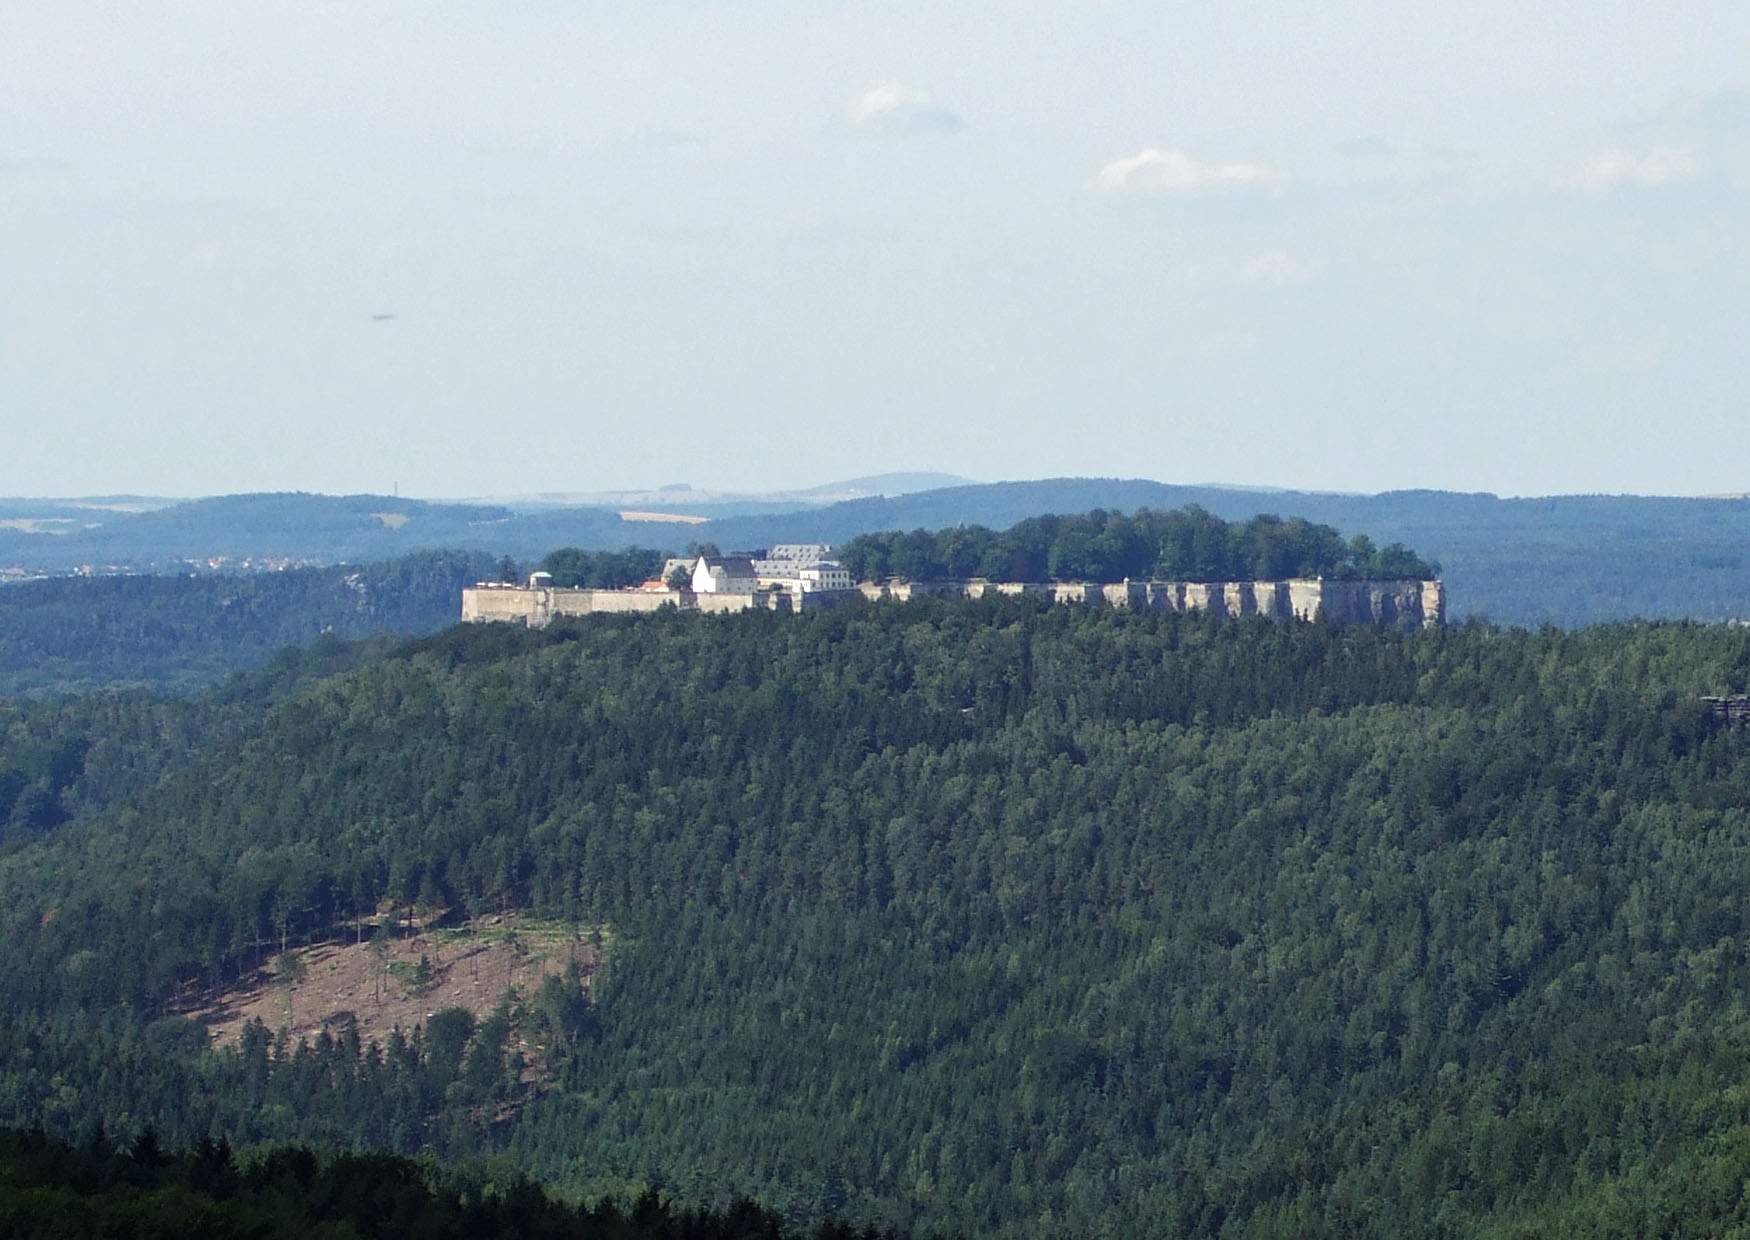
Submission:
M 691 570 L 691 588 L 648 581 L 632 589 L 569 589 L 534 574 L 527 586 L 481 582 L 462 591 L 462 619 L 508 621 L 542 628 L 567 616 L 654 612 L 663 607 L 723 614 L 747 610 L 812 612 L 850 598 L 908 602 L 914 598 L 985 598 L 1026 595 L 1085 607 L 1136 607 L 1160 612 L 1213 612 L 1269 619 L 1330 619 L 1349 624 L 1435 628 L 1446 623 L 1446 584 L 1440 581 L 1346 581 L 1297 577 L 1288 581 L 1122 581 L 1122 582 L 1017 582 L 1017 581 L 887 581 L 852 586 L 838 565 L 821 560 L 784 572 L 774 560 L 702 556 Z M 681 565 L 684 570 L 684 563 Z M 770 572 L 768 572 L 770 570 Z M 835 572 L 836 570 L 836 572 Z

